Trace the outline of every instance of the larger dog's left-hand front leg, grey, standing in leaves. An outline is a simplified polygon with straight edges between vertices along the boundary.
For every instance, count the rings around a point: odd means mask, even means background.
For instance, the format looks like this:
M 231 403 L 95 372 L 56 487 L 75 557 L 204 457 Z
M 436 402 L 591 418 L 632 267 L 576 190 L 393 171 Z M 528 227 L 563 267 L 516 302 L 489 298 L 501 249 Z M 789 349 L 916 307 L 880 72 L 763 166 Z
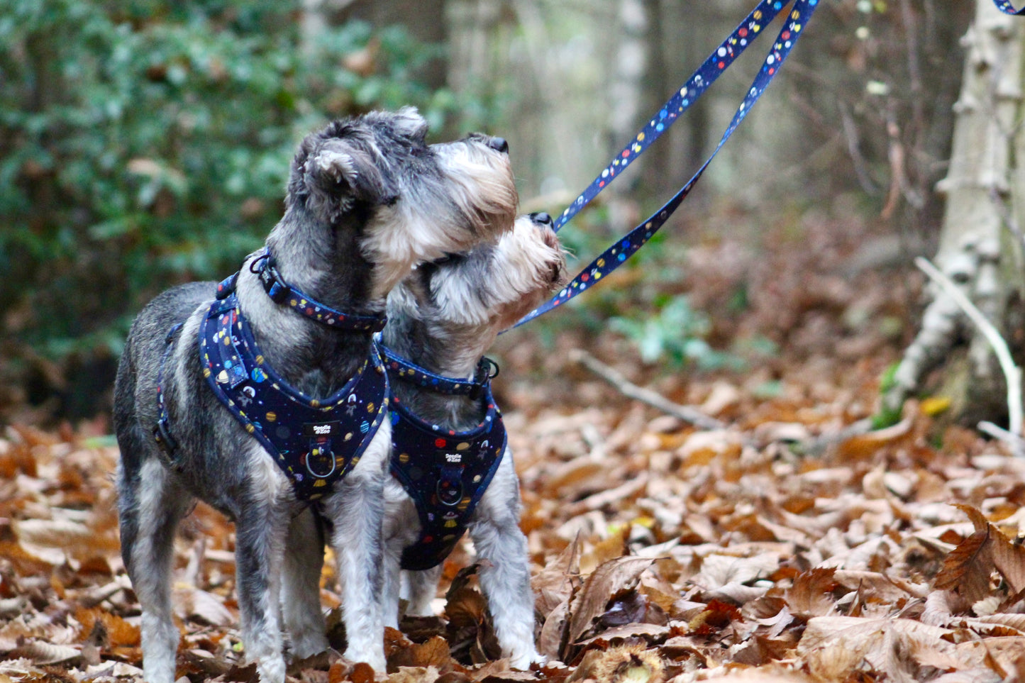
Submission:
M 284 683 L 280 600 L 290 485 L 261 448 L 250 463 L 250 490 L 235 522 L 242 642 L 262 683 Z

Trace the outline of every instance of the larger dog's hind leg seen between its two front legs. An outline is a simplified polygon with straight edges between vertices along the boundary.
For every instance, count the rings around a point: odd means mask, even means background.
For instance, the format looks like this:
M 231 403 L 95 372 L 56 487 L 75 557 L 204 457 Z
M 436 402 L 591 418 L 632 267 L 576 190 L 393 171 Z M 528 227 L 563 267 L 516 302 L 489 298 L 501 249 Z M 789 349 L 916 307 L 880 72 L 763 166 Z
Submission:
M 282 566 L 282 619 L 292 656 L 302 659 L 328 648 L 320 604 L 324 532 L 313 510 L 303 510 L 289 524 Z

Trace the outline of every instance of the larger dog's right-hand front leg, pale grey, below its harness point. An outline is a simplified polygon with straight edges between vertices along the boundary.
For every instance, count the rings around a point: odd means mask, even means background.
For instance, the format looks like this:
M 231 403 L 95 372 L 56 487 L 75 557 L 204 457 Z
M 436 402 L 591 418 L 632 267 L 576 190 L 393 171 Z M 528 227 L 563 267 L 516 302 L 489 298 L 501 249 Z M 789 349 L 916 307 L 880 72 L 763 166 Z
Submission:
M 348 640 L 345 657 L 366 661 L 382 673 L 381 522 L 391 433 L 391 425 L 385 420 L 359 464 L 324 501 L 325 515 L 334 524 L 331 548 L 341 582 L 342 620 Z

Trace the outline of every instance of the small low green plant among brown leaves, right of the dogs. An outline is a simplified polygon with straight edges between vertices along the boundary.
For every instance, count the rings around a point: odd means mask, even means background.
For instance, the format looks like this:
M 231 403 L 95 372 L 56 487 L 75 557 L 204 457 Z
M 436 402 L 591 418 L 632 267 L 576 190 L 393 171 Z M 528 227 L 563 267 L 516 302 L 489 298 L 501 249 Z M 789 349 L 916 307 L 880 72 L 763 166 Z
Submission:
M 654 315 L 609 321 L 612 329 L 637 345 L 642 360 L 667 361 L 678 367 L 693 363 L 702 370 L 742 367 L 739 358 L 708 346 L 704 338 L 711 330 L 708 317 L 692 309 L 686 296 L 673 296 L 659 304 Z

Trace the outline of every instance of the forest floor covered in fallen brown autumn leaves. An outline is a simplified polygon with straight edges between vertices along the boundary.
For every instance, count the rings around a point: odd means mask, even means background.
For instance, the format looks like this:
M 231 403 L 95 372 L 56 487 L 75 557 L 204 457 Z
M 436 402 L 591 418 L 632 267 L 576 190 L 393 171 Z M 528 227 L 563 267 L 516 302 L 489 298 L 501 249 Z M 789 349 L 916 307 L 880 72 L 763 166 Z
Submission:
M 498 658 L 461 548 L 439 616 L 387 634 L 388 681 L 1025 681 L 1025 461 L 946 425 L 942 398 L 851 429 L 913 334 L 922 278 L 906 257 L 888 265 L 887 240 L 854 218 L 757 238 L 742 217 L 721 220 L 689 236 L 684 277 L 656 284 L 687 292 L 711 320 L 707 340 L 746 369 L 643 363 L 623 336 L 587 327 L 586 309 L 496 349 L 548 664 Z M 636 292 L 643 319 L 656 270 L 603 286 Z M 594 371 L 608 368 L 719 425 L 627 398 Z M 0 683 L 140 678 L 109 430 L 97 418 L 0 435 Z M 177 539 L 178 675 L 192 681 L 255 680 L 233 534 L 200 505 Z M 340 649 L 330 562 L 323 587 Z M 372 680 L 336 653 L 290 676 Z

